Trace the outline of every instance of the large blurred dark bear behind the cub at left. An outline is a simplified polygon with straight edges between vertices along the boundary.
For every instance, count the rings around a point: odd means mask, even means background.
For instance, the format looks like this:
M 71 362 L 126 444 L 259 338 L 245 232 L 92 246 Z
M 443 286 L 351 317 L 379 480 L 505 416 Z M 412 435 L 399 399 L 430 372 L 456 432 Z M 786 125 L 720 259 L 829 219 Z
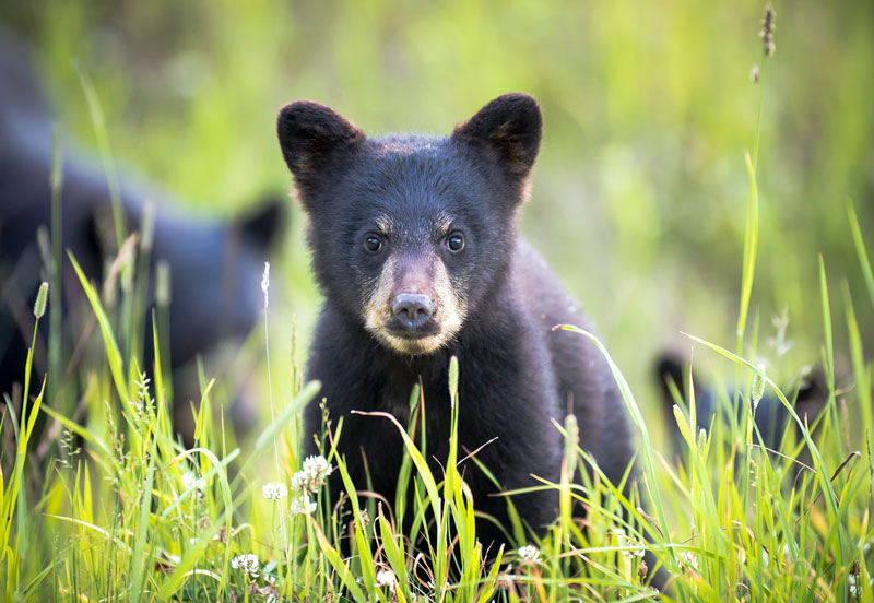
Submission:
M 13 382 L 23 381 L 25 358 L 33 334 L 32 306 L 37 286 L 48 280 L 46 260 L 37 245 L 37 229 L 50 225 L 52 111 L 31 64 L 29 56 L 9 33 L 0 32 L 0 394 Z M 108 255 L 98 224 L 109 218 L 107 180 L 83 153 L 64 149 L 62 170 L 62 244 L 98 283 L 105 276 Z M 210 352 L 222 340 L 241 338 L 255 326 L 262 309 L 259 287 L 263 262 L 281 224 L 281 205 L 264 206 L 260 213 L 235 223 L 186 218 L 173 209 L 166 194 L 135 182 L 120 180 L 120 200 L 128 232 L 139 230 L 143 203 L 154 200 L 154 243 L 151 268 L 166 261 L 170 269 L 172 302 L 168 345 L 174 369 L 177 413 L 190 415 L 189 400 L 199 400 L 196 371 L 182 377 L 181 367 Z M 64 316 L 86 304 L 69 261 L 63 260 Z M 54 295 L 56 292 L 50 292 Z M 154 292 L 150 292 L 153 299 Z M 150 302 L 151 304 L 151 302 Z M 147 308 L 143 309 L 147 311 Z M 45 340 L 48 321 L 40 324 L 34 379 L 46 371 Z M 64 327 L 69 328 L 64 319 Z M 151 320 L 146 321 L 142 369 L 151 368 Z M 66 332 L 67 347 L 80 333 Z M 64 357 L 64 370 L 67 369 Z M 232 405 L 235 424 L 246 427 L 255 419 L 253 409 L 238 399 Z M 182 427 L 182 431 L 187 428 Z

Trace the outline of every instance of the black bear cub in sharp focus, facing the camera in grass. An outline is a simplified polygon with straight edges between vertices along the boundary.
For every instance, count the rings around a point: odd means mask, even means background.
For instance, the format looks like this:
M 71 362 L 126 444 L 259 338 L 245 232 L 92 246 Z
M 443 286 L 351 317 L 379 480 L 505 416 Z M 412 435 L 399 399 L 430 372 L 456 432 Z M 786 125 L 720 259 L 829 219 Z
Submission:
M 427 452 L 435 474 L 447 458 L 448 367 L 458 357 L 459 446 L 473 451 L 504 489 L 556 481 L 563 440 L 552 421 L 574 412 L 580 444 L 617 483 L 631 460 L 625 410 L 610 370 L 584 338 L 553 332 L 584 324 L 543 259 L 520 237 L 519 214 L 538 155 L 538 103 L 507 94 L 449 137 L 369 138 L 330 108 L 307 100 L 280 111 L 279 141 L 309 218 L 309 245 L 324 305 L 308 366 L 333 424 L 338 452 L 356 487 L 394 500 L 404 457 L 390 422 L 409 417 L 412 388 L 424 390 Z M 321 411 L 305 416 L 316 452 Z M 494 440 L 494 441 L 492 441 Z M 507 503 L 475 463 L 463 468 L 484 545 L 505 542 Z M 331 490 L 342 490 L 336 472 Z M 557 494 L 513 497 L 541 532 Z

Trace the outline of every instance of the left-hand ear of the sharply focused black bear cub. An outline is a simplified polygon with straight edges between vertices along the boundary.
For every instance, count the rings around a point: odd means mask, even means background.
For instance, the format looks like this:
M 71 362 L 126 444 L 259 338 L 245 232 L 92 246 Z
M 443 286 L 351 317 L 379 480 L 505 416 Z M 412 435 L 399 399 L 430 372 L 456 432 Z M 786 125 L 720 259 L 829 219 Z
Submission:
M 332 152 L 366 138 L 333 109 L 311 100 L 295 100 L 280 109 L 276 133 L 285 164 L 298 184 L 318 173 Z

